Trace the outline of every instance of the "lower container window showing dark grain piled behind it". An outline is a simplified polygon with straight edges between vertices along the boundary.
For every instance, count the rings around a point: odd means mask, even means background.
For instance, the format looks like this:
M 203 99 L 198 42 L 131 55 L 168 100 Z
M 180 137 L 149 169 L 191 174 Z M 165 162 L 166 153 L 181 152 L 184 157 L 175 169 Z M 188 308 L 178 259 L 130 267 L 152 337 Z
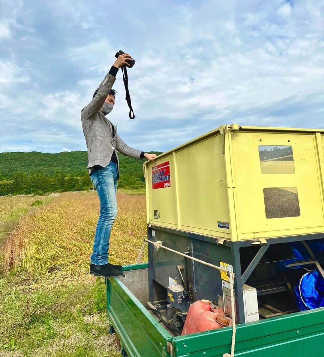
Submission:
M 266 187 L 263 197 L 266 218 L 300 216 L 296 187 Z

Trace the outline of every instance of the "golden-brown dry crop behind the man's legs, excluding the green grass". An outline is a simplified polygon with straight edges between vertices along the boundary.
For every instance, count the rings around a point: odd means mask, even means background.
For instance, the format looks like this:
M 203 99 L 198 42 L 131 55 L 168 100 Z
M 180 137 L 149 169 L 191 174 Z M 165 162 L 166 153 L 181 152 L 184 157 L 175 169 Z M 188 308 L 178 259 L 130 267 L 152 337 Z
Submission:
M 118 217 L 110 238 L 110 262 L 136 260 L 145 227 L 145 196 L 118 193 Z M 1 252 L 1 271 L 22 274 L 88 270 L 99 199 L 96 193 L 63 193 L 49 205 L 26 215 L 7 237 Z

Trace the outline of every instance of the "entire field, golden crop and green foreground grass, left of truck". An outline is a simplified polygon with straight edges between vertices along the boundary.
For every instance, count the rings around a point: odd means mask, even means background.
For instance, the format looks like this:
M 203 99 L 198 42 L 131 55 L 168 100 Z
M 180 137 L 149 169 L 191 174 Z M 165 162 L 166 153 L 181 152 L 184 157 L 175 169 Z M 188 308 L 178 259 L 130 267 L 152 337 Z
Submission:
M 117 197 L 109 260 L 126 265 L 146 236 L 145 196 Z M 118 356 L 104 281 L 89 275 L 98 216 L 96 192 L 0 198 L 0 356 Z

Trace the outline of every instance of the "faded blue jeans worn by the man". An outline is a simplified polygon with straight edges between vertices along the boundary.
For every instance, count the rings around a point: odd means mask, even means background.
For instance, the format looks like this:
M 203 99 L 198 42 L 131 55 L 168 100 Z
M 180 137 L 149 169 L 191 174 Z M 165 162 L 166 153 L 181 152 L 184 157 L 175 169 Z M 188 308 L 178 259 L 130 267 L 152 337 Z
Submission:
M 117 216 L 117 165 L 110 162 L 91 172 L 93 182 L 100 200 L 100 215 L 97 223 L 91 263 L 104 265 L 108 263 L 108 249 L 111 228 Z

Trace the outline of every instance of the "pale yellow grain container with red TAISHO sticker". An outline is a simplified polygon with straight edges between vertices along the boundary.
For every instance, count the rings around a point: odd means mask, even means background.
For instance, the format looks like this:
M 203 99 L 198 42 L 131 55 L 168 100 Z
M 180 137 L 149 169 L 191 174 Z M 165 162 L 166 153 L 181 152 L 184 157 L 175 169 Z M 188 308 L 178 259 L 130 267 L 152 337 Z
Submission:
M 323 135 L 223 125 L 145 162 L 148 223 L 231 241 L 324 232 Z

